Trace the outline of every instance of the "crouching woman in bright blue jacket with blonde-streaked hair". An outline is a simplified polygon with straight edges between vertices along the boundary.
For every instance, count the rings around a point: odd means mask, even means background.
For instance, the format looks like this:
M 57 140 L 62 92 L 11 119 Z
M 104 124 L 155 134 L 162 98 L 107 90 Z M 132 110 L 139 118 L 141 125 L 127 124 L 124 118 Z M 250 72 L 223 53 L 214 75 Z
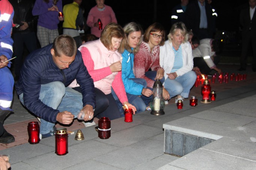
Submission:
M 144 79 L 135 78 L 133 73 L 134 53 L 138 51 L 141 42 L 142 28 L 134 22 L 124 26 L 127 36 L 127 45 L 122 53 L 122 80 L 127 93 L 128 102 L 137 108 L 137 112 L 146 110 L 152 98 L 152 90 L 146 88 L 147 82 Z M 113 96 L 116 96 L 112 91 Z M 120 103 L 117 98 L 116 103 Z M 122 106 L 119 106 L 121 116 L 124 116 Z

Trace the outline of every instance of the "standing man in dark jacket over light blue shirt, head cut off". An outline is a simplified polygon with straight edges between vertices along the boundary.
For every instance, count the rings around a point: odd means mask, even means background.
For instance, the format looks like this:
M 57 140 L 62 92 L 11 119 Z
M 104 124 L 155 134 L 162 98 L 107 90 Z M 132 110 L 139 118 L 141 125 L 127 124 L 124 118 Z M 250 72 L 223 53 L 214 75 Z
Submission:
M 186 27 L 192 29 L 199 40 L 213 38 L 215 25 L 212 22 L 212 9 L 205 0 L 194 0 L 189 3 L 185 15 Z

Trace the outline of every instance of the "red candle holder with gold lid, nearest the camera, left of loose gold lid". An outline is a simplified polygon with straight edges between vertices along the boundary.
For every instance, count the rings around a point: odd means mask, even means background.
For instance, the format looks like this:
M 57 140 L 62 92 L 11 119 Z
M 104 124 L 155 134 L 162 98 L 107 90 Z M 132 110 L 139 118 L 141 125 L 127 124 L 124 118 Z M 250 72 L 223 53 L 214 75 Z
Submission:
M 55 133 L 55 154 L 66 155 L 68 153 L 67 128 L 57 128 Z

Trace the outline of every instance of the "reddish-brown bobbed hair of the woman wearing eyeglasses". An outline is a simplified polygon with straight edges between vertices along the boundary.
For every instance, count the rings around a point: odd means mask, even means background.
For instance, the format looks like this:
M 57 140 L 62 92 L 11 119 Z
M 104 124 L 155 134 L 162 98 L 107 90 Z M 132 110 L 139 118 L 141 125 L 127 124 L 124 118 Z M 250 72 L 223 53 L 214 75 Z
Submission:
M 144 42 L 149 42 L 149 36 L 150 36 L 150 32 L 161 32 L 163 35 L 162 41 L 160 42 L 160 46 L 164 45 L 164 41 L 165 41 L 165 30 L 164 30 L 164 26 L 162 26 L 160 23 L 155 22 L 152 25 L 150 25 L 143 36 L 143 41 Z

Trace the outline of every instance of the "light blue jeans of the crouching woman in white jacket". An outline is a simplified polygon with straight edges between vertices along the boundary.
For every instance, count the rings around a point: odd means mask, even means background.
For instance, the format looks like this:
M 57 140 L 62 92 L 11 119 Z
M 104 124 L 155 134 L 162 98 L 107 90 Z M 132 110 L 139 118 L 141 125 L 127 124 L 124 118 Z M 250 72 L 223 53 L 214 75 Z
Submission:
M 164 88 L 169 92 L 170 98 L 176 95 L 188 98 L 189 91 L 195 84 L 195 80 L 196 73 L 194 71 L 189 71 L 174 80 L 167 78 L 164 82 Z

